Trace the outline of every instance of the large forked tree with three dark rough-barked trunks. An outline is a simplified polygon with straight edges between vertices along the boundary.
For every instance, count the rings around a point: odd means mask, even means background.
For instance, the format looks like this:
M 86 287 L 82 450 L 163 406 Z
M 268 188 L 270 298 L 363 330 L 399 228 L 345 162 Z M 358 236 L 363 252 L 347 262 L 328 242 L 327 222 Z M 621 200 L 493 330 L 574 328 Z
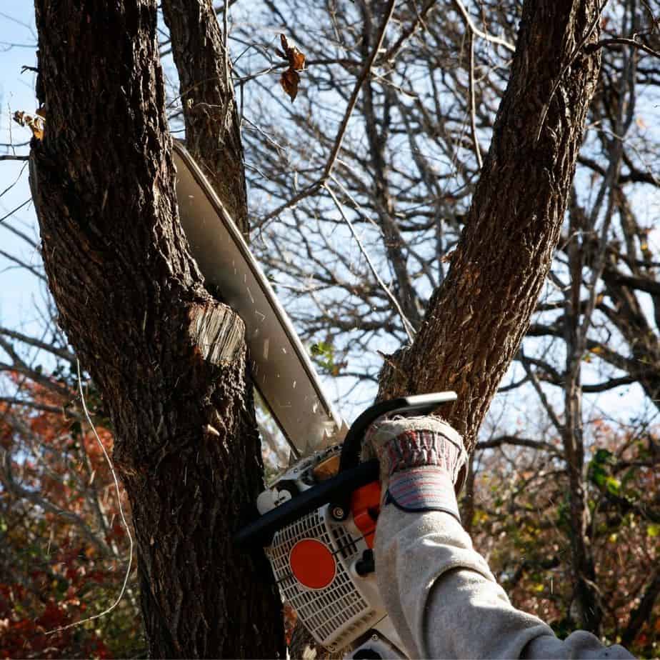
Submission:
M 156 1 L 35 4 L 46 131 L 32 144 L 31 185 L 44 264 L 59 322 L 114 425 L 151 655 L 281 655 L 266 561 L 231 544 L 261 487 L 259 436 L 243 324 L 205 288 L 179 223 Z M 373 5 L 384 33 L 394 1 Z M 186 143 L 247 234 L 226 34 L 209 0 L 164 0 L 163 11 Z M 381 376 L 379 396 L 455 389 L 451 421 L 469 449 L 559 238 L 599 73 L 589 46 L 600 11 L 596 0 L 524 2 L 449 274 Z M 364 62 L 379 56 L 372 44 Z M 571 506 L 577 514 L 584 502 Z

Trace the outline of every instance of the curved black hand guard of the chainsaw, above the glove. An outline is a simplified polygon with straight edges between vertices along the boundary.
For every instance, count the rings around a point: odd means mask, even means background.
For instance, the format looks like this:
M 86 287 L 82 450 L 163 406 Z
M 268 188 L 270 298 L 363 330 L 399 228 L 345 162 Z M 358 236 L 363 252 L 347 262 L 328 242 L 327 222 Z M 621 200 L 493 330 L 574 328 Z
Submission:
M 339 471 L 337 474 L 356 468 L 360 463 L 360 454 L 362 451 L 362 441 L 366 430 L 379 417 L 384 415 L 409 415 L 409 414 L 430 414 L 439 405 L 456 401 L 458 397 L 456 392 L 434 392 L 432 394 L 417 394 L 416 396 L 401 396 L 398 399 L 389 399 L 379 401 L 379 403 L 369 406 L 354 422 L 351 424 L 349 432 L 346 434 L 344 444 L 341 446 L 341 456 L 339 458 Z M 351 503 L 351 493 L 341 494 L 331 501 L 331 514 L 338 520 L 346 518 Z

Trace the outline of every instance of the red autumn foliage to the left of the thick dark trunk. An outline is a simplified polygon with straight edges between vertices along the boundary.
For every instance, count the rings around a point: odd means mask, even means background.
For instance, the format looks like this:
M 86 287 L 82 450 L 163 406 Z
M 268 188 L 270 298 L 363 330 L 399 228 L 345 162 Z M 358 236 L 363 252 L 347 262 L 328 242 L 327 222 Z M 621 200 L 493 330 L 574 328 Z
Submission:
M 145 644 L 132 580 L 111 613 L 61 630 L 116 599 L 126 531 L 111 472 L 71 379 L 56 379 L 59 396 L 13 377 L 23 403 L 0 404 L 0 657 L 134 656 Z M 87 398 L 92 410 L 101 409 L 93 390 Z M 111 451 L 101 415 L 96 430 Z

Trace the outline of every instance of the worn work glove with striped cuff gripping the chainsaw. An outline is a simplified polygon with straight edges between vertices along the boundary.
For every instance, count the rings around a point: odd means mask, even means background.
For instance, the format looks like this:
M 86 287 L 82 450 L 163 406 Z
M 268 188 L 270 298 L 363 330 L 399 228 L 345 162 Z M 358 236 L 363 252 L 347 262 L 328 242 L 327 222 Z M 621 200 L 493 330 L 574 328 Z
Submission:
M 362 460 L 380 464 L 383 505 L 446 511 L 460 521 L 456 496 L 467 474 L 463 439 L 439 417 L 399 417 L 371 424 Z

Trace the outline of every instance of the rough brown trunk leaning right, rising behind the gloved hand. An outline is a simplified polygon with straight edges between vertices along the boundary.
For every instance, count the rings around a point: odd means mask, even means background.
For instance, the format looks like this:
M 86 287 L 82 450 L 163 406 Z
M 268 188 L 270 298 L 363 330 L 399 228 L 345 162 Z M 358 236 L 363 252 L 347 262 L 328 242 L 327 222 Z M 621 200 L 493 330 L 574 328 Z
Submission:
M 559 239 L 596 89 L 596 0 L 527 0 L 511 78 L 451 268 L 409 349 L 386 361 L 379 397 L 454 389 L 449 419 L 474 448 Z

